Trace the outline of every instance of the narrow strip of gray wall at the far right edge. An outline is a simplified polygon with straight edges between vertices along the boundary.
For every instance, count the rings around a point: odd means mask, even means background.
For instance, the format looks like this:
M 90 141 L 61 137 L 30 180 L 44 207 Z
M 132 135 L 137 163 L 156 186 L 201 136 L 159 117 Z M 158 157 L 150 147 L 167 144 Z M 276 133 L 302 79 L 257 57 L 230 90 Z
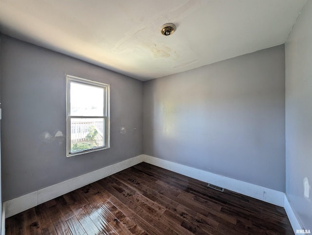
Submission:
M 307 1 L 285 44 L 286 193 L 303 226 L 310 230 L 312 230 L 311 23 L 312 1 Z

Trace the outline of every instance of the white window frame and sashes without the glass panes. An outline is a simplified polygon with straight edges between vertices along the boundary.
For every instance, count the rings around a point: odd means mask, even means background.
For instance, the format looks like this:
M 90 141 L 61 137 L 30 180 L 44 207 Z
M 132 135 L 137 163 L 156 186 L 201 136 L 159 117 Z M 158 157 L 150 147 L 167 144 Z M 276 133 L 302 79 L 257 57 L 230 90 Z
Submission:
M 88 116 L 70 116 L 70 83 L 100 87 L 104 89 L 104 116 L 102 117 L 88 117 Z M 106 115 L 105 115 L 106 114 Z M 71 118 L 104 118 L 104 146 L 99 146 L 91 149 L 76 151 L 71 153 Z M 110 85 L 98 81 L 92 81 L 85 78 L 79 78 L 72 75 L 66 75 L 66 157 L 91 153 L 103 149 L 110 148 Z

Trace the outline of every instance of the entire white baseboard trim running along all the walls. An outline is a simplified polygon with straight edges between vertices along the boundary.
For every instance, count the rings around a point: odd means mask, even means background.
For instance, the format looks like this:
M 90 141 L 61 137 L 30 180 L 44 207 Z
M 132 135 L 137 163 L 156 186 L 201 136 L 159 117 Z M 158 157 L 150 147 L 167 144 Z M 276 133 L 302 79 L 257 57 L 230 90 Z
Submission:
M 138 163 L 143 161 L 184 176 L 189 176 L 191 178 L 195 178 L 207 183 L 218 185 L 222 188 L 234 191 L 236 193 L 251 196 L 253 198 L 269 202 L 273 205 L 284 207 L 287 216 L 291 221 L 294 233 L 297 229 L 303 229 L 298 217 L 292 210 L 288 197 L 283 192 L 229 178 L 226 176 L 216 175 L 214 173 L 206 172 L 193 167 L 181 165 L 179 163 L 163 160 L 148 155 L 139 155 L 137 157 L 132 157 L 130 159 L 118 162 L 110 166 L 106 166 L 85 175 L 78 176 L 60 182 L 58 184 L 40 189 L 38 191 L 5 201 L 3 202 L 2 214 L 4 215 L 5 212 L 5 218 L 16 215 L 29 208 L 74 191 L 101 178 L 113 175 L 119 171 L 137 165 Z

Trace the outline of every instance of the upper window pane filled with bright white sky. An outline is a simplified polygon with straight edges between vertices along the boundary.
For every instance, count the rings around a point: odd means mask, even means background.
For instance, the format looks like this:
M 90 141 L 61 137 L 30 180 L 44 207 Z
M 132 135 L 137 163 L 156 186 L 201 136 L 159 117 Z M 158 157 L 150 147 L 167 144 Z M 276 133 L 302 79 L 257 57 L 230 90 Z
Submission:
M 104 88 L 70 82 L 70 116 L 104 116 Z

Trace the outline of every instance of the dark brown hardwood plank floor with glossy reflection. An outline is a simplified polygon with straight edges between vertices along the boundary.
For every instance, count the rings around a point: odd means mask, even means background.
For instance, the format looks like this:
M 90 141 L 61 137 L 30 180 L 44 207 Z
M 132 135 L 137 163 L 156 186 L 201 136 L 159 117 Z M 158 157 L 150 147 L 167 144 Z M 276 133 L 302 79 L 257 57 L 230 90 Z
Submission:
M 293 235 L 281 207 L 140 163 L 6 219 L 6 235 Z

